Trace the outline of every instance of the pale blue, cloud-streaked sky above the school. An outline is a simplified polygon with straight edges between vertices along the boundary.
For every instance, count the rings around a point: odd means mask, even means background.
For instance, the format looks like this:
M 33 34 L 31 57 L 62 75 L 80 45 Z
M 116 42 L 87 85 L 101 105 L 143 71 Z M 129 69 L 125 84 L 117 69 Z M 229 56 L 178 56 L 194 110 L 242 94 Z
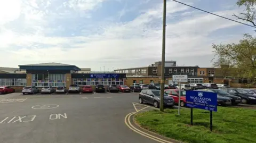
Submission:
M 236 0 L 179 0 L 236 20 Z M 92 71 L 148 66 L 162 57 L 162 0 L 0 1 L 0 66 L 57 62 Z M 167 1 L 166 61 L 211 67 L 212 44 L 252 27 Z M 105 67 L 105 68 L 104 68 Z

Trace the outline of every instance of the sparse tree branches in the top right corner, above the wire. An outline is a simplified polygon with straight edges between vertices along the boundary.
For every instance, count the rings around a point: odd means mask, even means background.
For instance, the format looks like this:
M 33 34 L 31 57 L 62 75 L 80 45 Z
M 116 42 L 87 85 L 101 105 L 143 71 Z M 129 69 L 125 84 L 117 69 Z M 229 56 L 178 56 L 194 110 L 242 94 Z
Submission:
M 233 16 L 256 26 L 256 10 L 254 8 L 256 6 L 256 0 L 239 0 L 236 4 L 239 7 L 245 6 L 245 9 L 244 12 L 239 13 L 239 15 L 233 14 Z

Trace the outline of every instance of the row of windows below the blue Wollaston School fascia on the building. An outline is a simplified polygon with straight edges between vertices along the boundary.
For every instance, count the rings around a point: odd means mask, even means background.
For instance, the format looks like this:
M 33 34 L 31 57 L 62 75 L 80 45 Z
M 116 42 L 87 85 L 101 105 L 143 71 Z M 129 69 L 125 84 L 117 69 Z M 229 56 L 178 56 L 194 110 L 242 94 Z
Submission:
M 103 79 L 103 78 L 84 78 L 84 79 L 73 79 L 73 83 L 79 86 L 85 85 L 124 85 L 123 79 Z

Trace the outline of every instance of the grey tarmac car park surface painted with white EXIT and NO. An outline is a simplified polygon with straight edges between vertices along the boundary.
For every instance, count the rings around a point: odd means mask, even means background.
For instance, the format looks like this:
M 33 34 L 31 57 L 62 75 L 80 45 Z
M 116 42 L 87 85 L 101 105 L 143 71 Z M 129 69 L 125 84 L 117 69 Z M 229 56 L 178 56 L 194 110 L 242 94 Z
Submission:
M 125 123 L 128 114 L 155 109 L 138 104 L 138 94 L 0 95 L 0 142 L 161 142 Z

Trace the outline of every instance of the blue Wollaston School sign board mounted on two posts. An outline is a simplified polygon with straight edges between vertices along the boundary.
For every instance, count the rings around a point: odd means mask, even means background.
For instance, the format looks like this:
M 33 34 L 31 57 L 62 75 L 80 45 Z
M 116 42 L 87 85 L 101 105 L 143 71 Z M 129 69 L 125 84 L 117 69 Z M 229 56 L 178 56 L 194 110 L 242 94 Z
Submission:
M 186 91 L 186 106 L 217 112 L 217 93 L 206 91 Z

